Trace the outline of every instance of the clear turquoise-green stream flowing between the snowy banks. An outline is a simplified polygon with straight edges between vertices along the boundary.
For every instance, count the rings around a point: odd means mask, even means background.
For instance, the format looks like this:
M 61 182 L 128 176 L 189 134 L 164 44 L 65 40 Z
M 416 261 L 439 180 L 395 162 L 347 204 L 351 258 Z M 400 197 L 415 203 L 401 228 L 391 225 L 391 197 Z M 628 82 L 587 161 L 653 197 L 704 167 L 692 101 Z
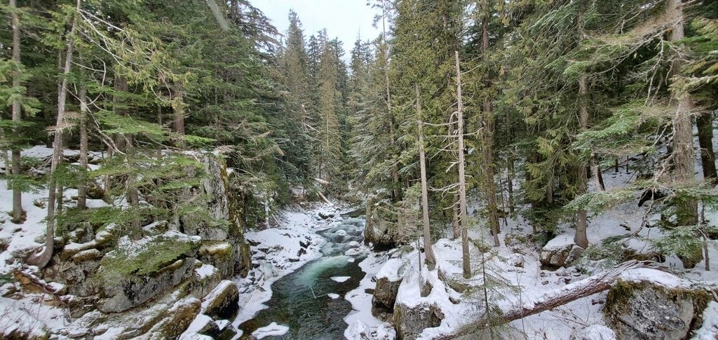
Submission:
M 320 232 L 327 239 L 322 258 L 277 280 L 271 286 L 271 300 L 264 303 L 269 308 L 240 325 L 241 339 L 249 339 L 253 331 L 272 322 L 289 326 L 289 331 L 284 336 L 264 339 L 343 339 L 348 326 L 344 317 L 352 311 L 344 295 L 357 288 L 364 277 L 358 264 L 365 256 L 348 256 L 345 252 L 363 241 L 363 226 L 363 219 L 352 218 Z M 347 276 L 349 279 L 344 282 L 332 280 L 332 277 Z M 331 298 L 327 294 L 339 297 Z

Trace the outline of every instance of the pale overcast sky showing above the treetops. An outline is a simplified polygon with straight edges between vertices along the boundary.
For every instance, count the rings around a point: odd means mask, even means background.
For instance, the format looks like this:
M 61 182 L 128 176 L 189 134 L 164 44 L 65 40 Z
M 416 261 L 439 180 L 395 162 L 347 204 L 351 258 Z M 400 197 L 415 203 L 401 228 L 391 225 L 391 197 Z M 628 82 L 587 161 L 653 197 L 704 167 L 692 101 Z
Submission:
M 330 38 L 338 37 L 344 43 L 345 60 L 361 33 L 361 39 L 374 39 L 381 27 L 372 27 L 378 9 L 371 9 L 366 0 L 252 0 L 253 6 L 274 22 L 281 34 L 289 27 L 289 10 L 294 9 L 302 21 L 304 37 L 309 38 L 321 29 L 327 29 Z

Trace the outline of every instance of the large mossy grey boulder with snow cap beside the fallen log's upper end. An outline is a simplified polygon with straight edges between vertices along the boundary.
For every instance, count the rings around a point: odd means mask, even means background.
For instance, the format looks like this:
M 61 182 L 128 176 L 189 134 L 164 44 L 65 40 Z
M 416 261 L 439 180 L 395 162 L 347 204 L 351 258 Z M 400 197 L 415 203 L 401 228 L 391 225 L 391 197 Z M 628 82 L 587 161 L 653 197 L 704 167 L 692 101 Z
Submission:
M 711 299 L 706 291 L 620 280 L 608 291 L 604 313 L 618 339 L 679 340 Z

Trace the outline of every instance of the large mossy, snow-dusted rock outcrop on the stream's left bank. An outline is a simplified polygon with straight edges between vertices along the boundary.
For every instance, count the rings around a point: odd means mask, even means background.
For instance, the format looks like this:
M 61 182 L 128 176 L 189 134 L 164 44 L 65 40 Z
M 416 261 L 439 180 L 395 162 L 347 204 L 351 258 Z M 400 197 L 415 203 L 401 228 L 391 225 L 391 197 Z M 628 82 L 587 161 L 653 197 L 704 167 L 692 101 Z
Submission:
M 243 202 L 230 189 L 224 161 L 215 156 L 201 160 L 210 176 L 192 190 L 212 197 L 213 217 L 228 223 L 204 225 L 191 217 L 152 222 L 133 240 L 118 237 L 116 225 L 95 232 L 81 224 L 65 240 L 57 239 L 54 258 L 38 274 L 64 287 L 60 300 L 73 323 L 63 336 L 174 339 L 200 313 L 209 321 L 198 334 L 232 331 L 222 320 L 237 313 L 238 288 L 224 279 L 246 275 L 251 268 L 240 216 Z

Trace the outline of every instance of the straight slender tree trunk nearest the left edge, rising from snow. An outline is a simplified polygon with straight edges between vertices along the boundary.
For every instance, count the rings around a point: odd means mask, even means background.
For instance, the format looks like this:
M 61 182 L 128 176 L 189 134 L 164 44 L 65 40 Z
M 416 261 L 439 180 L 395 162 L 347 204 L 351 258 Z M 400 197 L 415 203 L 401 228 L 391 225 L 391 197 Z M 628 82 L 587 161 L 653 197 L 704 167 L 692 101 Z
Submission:
M 17 16 L 17 6 L 15 0 L 10 0 L 10 9 L 12 11 L 12 61 L 17 67 L 12 72 L 12 88 L 13 91 L 20 88 L 20 19 Z M 15 97 L 12 100 L 12 121 L 17 124 L 13 128 L 15 136 L 19 136 L 18 126 L 22 121 L 22 115 L 20 113 L 20 100 Z M 22 223 L 22 191 L 17 183 L 19 180 L 18 176 L 22 172 L 20 164 L 20 149 L 19 146 L 12 148 L 12 174 L 15 178 L 12 186 L 12 222 Z M 8 168 L 8 164 L 5 163 L 5 169 Z M 8 188 L 9 189 L 9 188 Z

